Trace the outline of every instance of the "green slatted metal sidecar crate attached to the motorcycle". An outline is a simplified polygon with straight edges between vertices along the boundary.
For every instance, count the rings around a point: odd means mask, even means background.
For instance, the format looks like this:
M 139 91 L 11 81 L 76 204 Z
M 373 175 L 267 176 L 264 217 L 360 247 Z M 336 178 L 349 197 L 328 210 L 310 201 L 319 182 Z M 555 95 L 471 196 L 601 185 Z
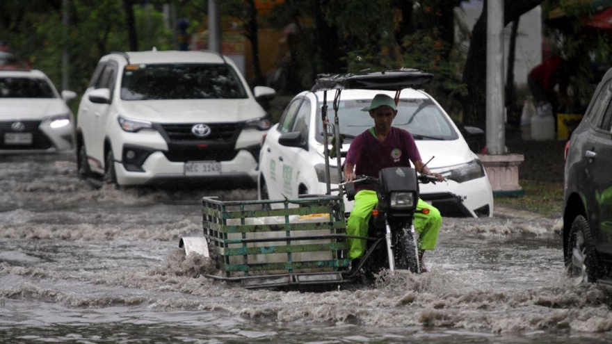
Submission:
M 266 205 L 280 209 L 262 209 Z M 347 270 L 346 220 L 340 197 L 221 202 L 202 199 L 202 226 L 209 251 L 223 277 L 257 280 L 271 275 L 272 284 L 291 284 L 312 275 Z M 308 277 L 311 275 L 311 277 Z M 212 276 L 209 276 L 212 277 Z M 335 277 L 321 277 L 334 279 Z M 281 281 L 281 282 L 278 282 Z

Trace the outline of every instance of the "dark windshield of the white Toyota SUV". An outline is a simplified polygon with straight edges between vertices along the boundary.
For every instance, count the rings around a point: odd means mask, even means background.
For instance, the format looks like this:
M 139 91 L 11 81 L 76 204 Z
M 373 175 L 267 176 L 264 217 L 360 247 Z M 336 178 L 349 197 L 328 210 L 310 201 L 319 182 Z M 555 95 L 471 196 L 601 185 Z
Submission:
M 246 92 L 229 65 L 127 65 L 121 99 L 242 99 Z

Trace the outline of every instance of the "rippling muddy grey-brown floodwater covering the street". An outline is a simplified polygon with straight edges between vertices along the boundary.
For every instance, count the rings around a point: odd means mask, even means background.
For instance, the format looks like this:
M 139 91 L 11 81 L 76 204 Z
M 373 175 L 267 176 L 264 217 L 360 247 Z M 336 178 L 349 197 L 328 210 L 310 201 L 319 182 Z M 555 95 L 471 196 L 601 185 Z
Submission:
M 74 156 L 0 156 L 1 343 L 612 343 L 612 291 L 565 276 L 561 219 L 445 218 L 429 272 L 245 290 L 192 277 L 200 199 L 80 181 Z

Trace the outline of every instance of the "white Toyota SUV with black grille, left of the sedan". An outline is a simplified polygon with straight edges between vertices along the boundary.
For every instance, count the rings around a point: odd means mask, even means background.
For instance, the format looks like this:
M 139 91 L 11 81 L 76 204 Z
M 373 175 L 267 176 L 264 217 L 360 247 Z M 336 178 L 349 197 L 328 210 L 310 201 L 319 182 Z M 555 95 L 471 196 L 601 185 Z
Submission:
M 79 176 L 118 186 L 255 182 L 271 126 L 258 101 L 273 97 L 264 86 L 251 92 L 232 60 L 211 51 L 104 56 L 79 104 Z

